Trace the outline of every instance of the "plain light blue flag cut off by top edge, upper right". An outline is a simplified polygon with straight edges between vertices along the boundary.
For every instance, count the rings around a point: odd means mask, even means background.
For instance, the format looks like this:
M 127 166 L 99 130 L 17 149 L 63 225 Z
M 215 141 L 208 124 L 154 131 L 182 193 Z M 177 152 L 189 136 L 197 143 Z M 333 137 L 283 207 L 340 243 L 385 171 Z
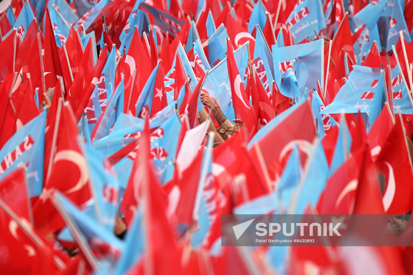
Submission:
M 377 21 L 382 16 L 388 0 L 372 1 L 353 16 L 356 27 L 366 25 L 366 28 L 373 29 Z

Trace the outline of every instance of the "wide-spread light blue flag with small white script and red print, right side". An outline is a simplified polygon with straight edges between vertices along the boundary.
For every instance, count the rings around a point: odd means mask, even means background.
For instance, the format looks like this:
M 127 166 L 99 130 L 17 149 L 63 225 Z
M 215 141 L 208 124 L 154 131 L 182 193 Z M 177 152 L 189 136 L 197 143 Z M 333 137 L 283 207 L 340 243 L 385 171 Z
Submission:
M 380 69 L 354 65 L 345 83 L 334 100 L 325 107 L 321 114 L 362 113 L 370 111 L 373 95 L 377 90 L 376 83 L 380 79 Z

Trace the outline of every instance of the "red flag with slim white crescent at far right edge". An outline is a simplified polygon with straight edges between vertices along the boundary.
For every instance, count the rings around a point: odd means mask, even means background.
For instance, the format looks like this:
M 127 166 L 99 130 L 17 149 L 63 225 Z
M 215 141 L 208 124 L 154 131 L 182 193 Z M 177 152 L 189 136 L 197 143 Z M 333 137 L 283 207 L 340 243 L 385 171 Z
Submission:
M 383 194 L 386 213 L 407 213 L 412 208 L 413 168 L 406 143 L 406 134 L 399 116 L 396 116 L 396 124 L 387 137 L 387 141 L 377 157 L 376 164 L 386 178 Z

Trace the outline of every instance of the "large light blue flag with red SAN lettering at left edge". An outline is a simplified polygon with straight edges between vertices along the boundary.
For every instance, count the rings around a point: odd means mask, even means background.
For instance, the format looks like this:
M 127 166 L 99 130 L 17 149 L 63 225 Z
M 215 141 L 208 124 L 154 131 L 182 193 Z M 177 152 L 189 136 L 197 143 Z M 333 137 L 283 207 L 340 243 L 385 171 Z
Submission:
M 46 112 L 20 128 L 0 150 L 0 180 L 21 166 L 27 166 L 26 179 L 30 197 L 39 196 L 43 187 L 43 155 Z

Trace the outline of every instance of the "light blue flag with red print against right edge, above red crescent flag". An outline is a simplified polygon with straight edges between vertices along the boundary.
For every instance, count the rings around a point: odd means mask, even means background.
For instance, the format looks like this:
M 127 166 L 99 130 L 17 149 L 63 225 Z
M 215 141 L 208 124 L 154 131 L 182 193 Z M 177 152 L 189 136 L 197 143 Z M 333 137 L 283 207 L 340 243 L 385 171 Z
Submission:
M 399 58 L 396 52 L 394 55 L 397 59 Z M 408 94 L 399 66 L 392 69 L 392 77 L 394 113 L 400 111 L 401 114 L 413 114 L 413 100 Z

